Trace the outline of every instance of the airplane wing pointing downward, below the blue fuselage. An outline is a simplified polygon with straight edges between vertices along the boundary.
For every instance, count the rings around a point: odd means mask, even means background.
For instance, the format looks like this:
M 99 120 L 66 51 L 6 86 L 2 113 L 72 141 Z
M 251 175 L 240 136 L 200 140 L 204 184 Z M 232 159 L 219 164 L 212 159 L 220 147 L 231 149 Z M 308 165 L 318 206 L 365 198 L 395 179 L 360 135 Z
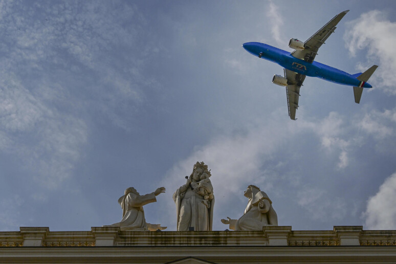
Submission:
M 290 83 L 288 86 L 286 86 L 289 116 L 290 119 L 296 120 L 296 110 L 298 108 L 298 99 L 300 97 L 300 87 L 305 79 L 305 75 L 284 69 L 284 77 L 287 78 L 288 83 Z

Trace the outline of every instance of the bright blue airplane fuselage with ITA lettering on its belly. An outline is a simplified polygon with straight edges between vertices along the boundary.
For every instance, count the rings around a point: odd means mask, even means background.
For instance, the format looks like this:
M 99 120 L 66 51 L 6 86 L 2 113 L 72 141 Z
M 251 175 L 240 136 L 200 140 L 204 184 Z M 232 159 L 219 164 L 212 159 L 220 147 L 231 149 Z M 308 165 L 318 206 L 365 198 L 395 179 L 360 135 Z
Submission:
M 344 71 L 330 67 L 319 62 L 306 62 L 304 60 L 293 57 L 289 52 L 272 47 L 260 42 L 247 42 L 243 45 L 244 49 L 254 56 L 261 57 L 278 63 L 281 67 L 290 71 L 300 73 L 306 76 L 318 77 L 326 81 L 331 81 L 343 85 L 360 86 L 363 84 L 365 88 L 372 86 L 367 82 L 362 83 L 356 77 L 359 74 L 351 75 Z

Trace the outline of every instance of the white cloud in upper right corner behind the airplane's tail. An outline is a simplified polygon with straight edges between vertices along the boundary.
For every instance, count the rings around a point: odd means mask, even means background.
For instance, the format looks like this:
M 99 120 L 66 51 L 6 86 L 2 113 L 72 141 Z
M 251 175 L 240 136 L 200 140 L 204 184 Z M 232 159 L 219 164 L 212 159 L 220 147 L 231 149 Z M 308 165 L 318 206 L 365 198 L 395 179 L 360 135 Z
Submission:
M 396 95 L 396 50 L 393 48 L 396 43 L 396 22 L 387 19 L 384 12 L 373 10 L 361 14 L 347 25 L 344 40 L 350 54 L 356 56 L 359 50 L 367 50 L 367 62 L 358 65 L 359 70 L 363 72 L 371 64 L 379 65 L 371 84 L 374 83 L 374 87 L 386 86 L 381 89 Z

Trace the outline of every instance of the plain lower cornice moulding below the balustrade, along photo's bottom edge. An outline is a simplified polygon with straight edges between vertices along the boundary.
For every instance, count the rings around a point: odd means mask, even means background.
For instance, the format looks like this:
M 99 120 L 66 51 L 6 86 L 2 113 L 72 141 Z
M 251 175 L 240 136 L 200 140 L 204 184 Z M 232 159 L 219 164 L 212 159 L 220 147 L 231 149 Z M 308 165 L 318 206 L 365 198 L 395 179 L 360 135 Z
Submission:
M 0 252 L 3 263 L 166 263 L 186 257 L 214 263 L 389 263 L 396 259 L 395 247 L 381 246 L 7 247 Z

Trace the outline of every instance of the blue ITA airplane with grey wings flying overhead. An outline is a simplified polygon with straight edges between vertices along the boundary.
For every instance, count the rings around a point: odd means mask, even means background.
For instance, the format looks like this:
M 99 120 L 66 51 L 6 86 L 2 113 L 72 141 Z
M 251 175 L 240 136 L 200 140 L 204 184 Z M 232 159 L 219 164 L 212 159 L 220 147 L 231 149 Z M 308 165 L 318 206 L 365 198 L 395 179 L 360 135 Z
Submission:
M 343 11 L 328 21 L 312 37 L 302 42 L 296 38 L 289 40 L 292 53 L 260 42 L 247 42 L 242 46 L 246 51 L 262 59 L 267 59 L 281 65 L 283 76 L 275 74 L 272 83 L 286 87 L 288 111 L 290 119 L 296 120 L 296 109 L 300 97 L 300 88 L 305 76 L 318 77 L 326 81 L 354 87 L 355 102 L 359 103 L 363 88 L 371 88 L 367 83 L 372 73 L 377 69 L 373 65 L 364 73 L 349 74 L 328 65 L 314 61 L 320 46 L 334 32 L 336 25 L 349 10 Z

